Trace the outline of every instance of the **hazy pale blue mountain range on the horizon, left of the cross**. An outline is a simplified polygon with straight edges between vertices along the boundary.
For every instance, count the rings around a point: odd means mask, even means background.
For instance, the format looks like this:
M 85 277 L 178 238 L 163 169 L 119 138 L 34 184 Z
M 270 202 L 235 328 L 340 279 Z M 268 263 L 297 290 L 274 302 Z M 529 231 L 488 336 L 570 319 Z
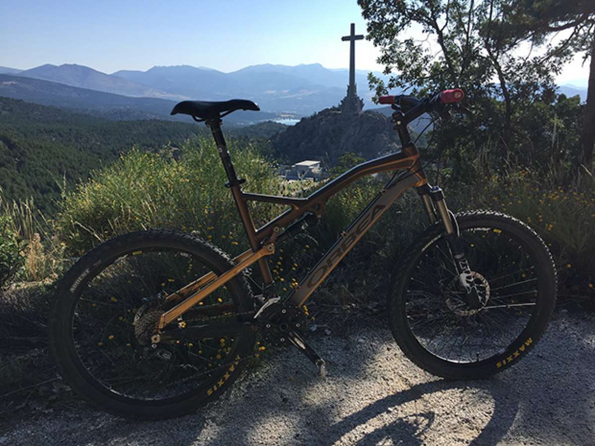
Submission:
M 336 105 L 345 96 L 348 71 L 329 70 L 320 64 L 252 65 L 232 73 L 205 67 L 178 65 L 147 71 L 101 73 L 83 65 L 41 65 L 30 70 L 0 67 L 0 74 L 36 78 L 71 87 L 131 97 L 158 99 L 254 100 L 264 111 L 310 115 Z M 381 76 L 380 73 L 377 73 Z M 358 71 L 359 95 L 371 105 L 367 72 Z

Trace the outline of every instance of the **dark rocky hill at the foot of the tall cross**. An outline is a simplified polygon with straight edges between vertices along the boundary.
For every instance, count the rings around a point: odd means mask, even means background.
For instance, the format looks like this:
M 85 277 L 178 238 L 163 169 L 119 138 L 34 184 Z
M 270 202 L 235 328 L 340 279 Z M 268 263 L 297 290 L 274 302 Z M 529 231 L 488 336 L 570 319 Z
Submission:
M 279 158 L 290 163 L 318 159 L 329 165 L 346 152 L 371 159 L 400 147 L 390 118 L 372 111 L 341 112 L 338 107 L 303 118 L 275 135 L 271 143 Z

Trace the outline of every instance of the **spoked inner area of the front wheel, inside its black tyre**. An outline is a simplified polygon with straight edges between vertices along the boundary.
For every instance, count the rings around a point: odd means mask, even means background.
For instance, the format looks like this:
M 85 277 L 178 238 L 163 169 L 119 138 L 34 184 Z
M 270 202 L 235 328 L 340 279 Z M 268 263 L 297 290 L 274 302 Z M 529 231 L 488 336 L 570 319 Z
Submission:
M 502 231 L 462 231 L 461 237 L 472 271 L 490 285 L 487 303 L 468 307 L 467 292 L 450 269 L 450 251 L 439 239 L 411 274 L 405 304 L 419 343 L 457 363 L 481 361 L 508 346 L 527 325 L 538 296 L 535 267 L 513 237 Z

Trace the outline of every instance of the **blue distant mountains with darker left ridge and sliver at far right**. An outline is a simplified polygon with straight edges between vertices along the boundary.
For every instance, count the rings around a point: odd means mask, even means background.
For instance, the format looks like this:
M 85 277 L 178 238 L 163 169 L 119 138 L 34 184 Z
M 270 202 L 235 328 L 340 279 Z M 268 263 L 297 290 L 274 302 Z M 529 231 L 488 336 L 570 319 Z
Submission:
M 364 99 L 365 108 L 374 108 L 367 74 L 367 71 L 356 70 L 358 95 Z M 381 73 L 374 74 L 387 78 Z M 102 113 L 114 109 L 117 111 L 113 114 L 114 118 L 126 118 L 127 115 L 139 118 L 143 114 L 163 118 L 168 115 L 173 101 L 183 99 L 251 99 L 269 114 L 249 114 L 242 118 L 237 112 L 231 115 L 234 117 L 232 120 L 248 120 L 246 123 L 249 123 L 271 117 L 308 116 L 337 105 L 345 96 L 349 73 L 346 69 L 331 70 L 321 64 L 251 65 L 231 73 L 176 65 L 153 67 L 146 71 L 120 70 L 111 74 L 83 65 L 45 64 L 30 70 L 0 67 L 0 76 L 13 77 L 4 78 L 0 83 L 0 95 L 46 105 L 100 110 Z M 41 84 L 40 81 L 54 84 Z M 100 96 L 99 92 L 112 96 Z M 583 100 L 587 95 L 586 89 L 576 84 L 560 86 L 559 92 L 568 96 L 580 95 Z

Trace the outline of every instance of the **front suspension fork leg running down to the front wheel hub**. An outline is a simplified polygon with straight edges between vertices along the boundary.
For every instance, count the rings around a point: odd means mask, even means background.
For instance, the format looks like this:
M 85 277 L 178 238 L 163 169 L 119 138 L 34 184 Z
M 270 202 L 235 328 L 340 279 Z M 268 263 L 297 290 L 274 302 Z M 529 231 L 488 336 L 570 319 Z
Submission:
M 432 222 L 433 218 L 440 218 L 444 225 L 446 243 L 455 264 L 459 282 L 466 291 L 466 303 L 471 308 L 481 308 L 484 303 L 481 301 L 480 293 L 478 293 L 477 285 L 475 285 L 475 280 L 471 274 L 471 268 L 469 268 L 469 262 L 467 262 L 465 256 L 459 225 L 456 222 L 455 214 L 450 212 L 446 206 L 442 189 L 439 186 L 428 186 L 427 190 L 418 190 L 418 193 L 422 197 L 430 222 Z

